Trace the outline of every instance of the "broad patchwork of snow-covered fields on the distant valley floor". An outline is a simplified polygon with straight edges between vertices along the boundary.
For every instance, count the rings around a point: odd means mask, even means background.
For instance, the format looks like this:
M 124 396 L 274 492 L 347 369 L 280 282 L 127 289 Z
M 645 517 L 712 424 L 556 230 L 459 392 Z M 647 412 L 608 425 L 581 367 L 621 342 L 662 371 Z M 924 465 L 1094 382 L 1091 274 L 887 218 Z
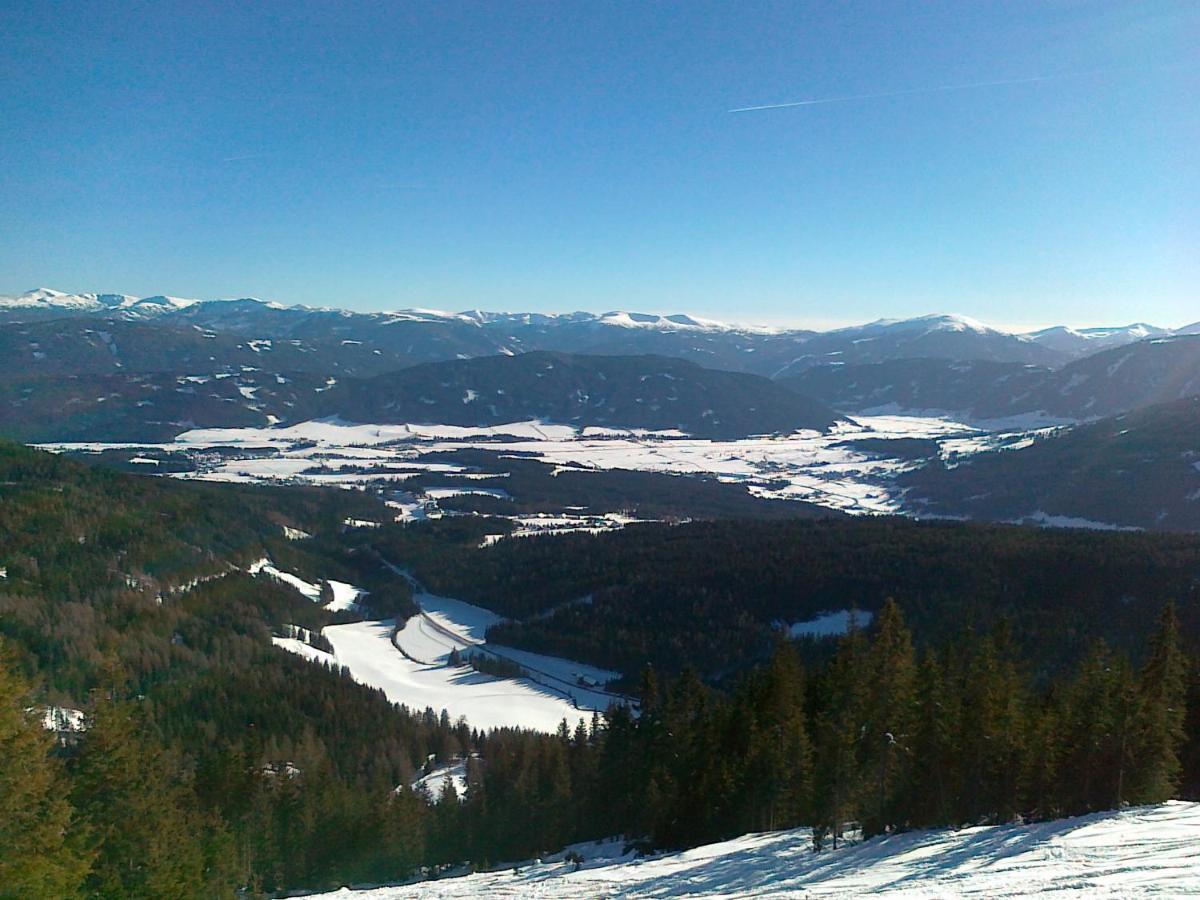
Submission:
M 430 488 L 427 498 L 481 492 L 503 496 L 494 488 L 473 488 L 462 478 L 470 474 L 462 467 L 421 460 L 428 452 L 479 448 L 592 469 L 704 474 L 745 484 L 762 497 L 809 500 L 847 512 L 896 512 L 902 497 L 893 476 L 914 463 L 847 444 L 896 438 L 936 440 L 942 456 L 952 458 L 1030 439 L 1019 430 L 989 433 L 943 418 L 876 415 L 858 418 L 826 434 L 800 431 L 742 440 L 702 440 L 679 432 L 580 431 L 536 421 L 487 428 L 308 421 L 290 427 L 194 430 L 170 444 L 58 444 L 54 449 L 246 448 L 245 457 L 212 458 L 199 472 L 179 476 L 340 486 L 395 482 L 403 488 L 403 482 L 416 474 L 443 473 L 460 476 L 462 486 Z M 277 455 L 262 456 L 262 449 Z

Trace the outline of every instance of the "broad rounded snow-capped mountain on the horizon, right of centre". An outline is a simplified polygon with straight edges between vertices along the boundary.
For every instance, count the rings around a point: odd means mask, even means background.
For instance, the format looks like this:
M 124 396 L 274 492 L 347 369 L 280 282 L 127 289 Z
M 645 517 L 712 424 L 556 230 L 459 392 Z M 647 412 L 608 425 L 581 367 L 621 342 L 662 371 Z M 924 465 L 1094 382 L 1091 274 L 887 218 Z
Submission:
M 776 377 L 822 365 L 864 365 L 894 359 L 983 360 L 1054 366 L 1067 355 L 1020 335 L 989 328 L 964 316 L 880 319 L 868 325 L 815 335 Z

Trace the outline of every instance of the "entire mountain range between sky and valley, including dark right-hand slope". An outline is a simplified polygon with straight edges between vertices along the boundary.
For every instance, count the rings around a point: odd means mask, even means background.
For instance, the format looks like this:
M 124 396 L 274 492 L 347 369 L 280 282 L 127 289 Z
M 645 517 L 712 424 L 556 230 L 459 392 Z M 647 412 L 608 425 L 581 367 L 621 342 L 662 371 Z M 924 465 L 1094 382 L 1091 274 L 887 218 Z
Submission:
M 918 515 L 1200 528 L 1200 323 L 1018 335 L 935 314 L 815 332 L 40 289 L 0 298 L 0 433 L 23 440 L 169 440 L 317 418 L 730 439 L 919 413 L 1075 427 L 910 473 Z

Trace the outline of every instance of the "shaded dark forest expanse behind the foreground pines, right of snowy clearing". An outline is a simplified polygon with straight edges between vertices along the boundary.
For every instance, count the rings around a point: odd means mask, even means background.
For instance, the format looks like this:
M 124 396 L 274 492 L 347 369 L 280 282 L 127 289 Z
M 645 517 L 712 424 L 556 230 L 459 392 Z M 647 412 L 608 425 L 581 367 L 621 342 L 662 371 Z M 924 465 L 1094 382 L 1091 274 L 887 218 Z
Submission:
M 480 547 L 470 521 L 389 527 L 373 542 L 434 590 L 514 622 L 491 637 L 636 673 L 737 670 L 779 624 L 899 600 L 924 641 L 1012 622 L 1037 671 L 1094 637 L 1128 649 L 1148 610 L 1181 604 L 1200 635 L 1200 538 L 917 523 L 692 522 Z M 586 599 L 587 602 L 580 602 Z

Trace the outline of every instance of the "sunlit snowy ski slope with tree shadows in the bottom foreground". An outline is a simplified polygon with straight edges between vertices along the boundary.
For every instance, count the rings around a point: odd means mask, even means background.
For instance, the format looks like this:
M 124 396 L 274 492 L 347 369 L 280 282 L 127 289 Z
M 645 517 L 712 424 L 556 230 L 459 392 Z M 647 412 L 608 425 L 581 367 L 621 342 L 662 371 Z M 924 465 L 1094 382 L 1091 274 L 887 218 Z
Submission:
M 1200 895 L 1200 803 L 1030 826 L 912 832 L 814 853 L 808 829 L 750 834 L 650 859 L 589 852 L 329 900 L 454 898 L 1182 898 Z M 598 853 L 598 856 L 592 856 Z

